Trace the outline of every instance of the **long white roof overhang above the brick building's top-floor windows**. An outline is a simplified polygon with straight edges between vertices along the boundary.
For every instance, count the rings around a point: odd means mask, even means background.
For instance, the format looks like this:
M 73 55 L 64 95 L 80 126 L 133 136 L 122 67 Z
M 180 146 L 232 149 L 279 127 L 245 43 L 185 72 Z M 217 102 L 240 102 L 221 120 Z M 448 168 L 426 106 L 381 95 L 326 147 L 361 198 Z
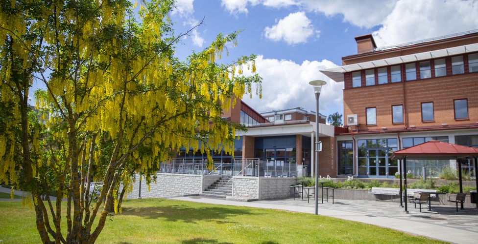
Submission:
M 478 43 L 457 46 L 457 47 L 450 47 L 440 50 L 433 50 L 423 53 L 416 53 L 410 54 L 400 57 L 392 57 L 387 59 L 381 60 L 374 60 L 374 61 L 366 61 L 360 63 L 354 63 L 349 65 L 343 65 L 340 67 L 321 70 L 324 75 L 328 76 L 330 79 L 334 80 L 335 82 L 343 82 L 344 81 L 344 73 L 347 72 L 354 72 L 363 69 L 373 69 L 377 67 L 389 66 L 389 65 L 396 65 L 401 63 L 408 63 L 408 62 L 416 62 L 422 60 L 430 60 L 430 59 L 437 59 L 443 58 L 448 56 L 454 56 L 459 54 L 471 53 L 478 51 Z

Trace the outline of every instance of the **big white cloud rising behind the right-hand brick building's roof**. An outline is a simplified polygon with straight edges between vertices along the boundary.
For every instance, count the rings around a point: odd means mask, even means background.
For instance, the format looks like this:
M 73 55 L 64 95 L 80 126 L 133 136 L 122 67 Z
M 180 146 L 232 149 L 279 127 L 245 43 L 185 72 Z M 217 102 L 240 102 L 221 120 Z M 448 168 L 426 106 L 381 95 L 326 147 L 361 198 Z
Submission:
M 478 29 L 478 1 L 400 0 L 373 33 L 378 46 Z

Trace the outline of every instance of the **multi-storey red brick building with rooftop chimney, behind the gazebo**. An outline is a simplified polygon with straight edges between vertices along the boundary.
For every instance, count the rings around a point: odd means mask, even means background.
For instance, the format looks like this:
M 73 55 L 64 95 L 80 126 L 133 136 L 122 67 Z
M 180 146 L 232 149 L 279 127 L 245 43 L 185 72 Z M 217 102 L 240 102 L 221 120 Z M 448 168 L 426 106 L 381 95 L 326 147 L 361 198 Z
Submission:
M 358 54 L 322 70 L 344 82 L 346 130 L 337 131 L 336 174 L 394 177 L 392 151 L 429 140 L 478 147 L 478 32 L 377 48 L 356 37 Z M 473 162 L 463 162 L 475 177 Z M 407 171 L 438 176 L 455 161 L 407 162 Z

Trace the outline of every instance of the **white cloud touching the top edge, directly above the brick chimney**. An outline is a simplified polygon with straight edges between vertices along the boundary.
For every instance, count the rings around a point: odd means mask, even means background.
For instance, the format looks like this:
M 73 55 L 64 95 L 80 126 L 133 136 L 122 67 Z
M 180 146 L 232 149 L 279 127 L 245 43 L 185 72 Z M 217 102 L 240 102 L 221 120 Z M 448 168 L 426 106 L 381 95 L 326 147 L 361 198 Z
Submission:
M 300 3 L 308 11 L 322 12 L 327 17 L 342 15 L 346 22 L 371 28 L 392 11 L 396 0 L 301 0 Z

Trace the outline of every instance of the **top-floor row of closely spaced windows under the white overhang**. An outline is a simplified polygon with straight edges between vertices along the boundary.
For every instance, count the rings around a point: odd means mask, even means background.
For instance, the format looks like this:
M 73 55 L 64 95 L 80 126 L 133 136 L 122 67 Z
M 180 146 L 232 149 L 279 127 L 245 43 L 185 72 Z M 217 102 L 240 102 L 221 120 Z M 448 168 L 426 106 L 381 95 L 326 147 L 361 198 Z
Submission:
M 451 75 L 458 75 L 465 73 L 465 65 L 463 61 L 464 56 L 451 57 Z M 478 53 L 469 54 L 468 58 L 468 72 L 478 72 Z M 418 72 L 417 72 L 418 70 Z M 382 67 L 378 69 L 365 70 L 365 85 L 386 84 L 388 82 L 402 81 L 401 65 Z M 441 77 L 447 75 L 446 59 L 435 59 L 423 62 L 413 62 L 405 64 L 405 80 L 414 81 L 419 79 L 428 79 L 434 77 Z M 362 86 L 362 72 L 357 71 L 352 73 L 352 87 Z

